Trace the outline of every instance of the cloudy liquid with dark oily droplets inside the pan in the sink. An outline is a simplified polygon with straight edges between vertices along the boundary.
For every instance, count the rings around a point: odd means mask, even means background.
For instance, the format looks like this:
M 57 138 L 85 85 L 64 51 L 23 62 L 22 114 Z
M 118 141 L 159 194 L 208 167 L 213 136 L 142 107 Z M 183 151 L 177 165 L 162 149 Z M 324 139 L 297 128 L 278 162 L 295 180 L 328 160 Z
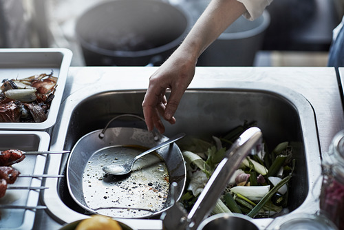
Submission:
M 92 154 L 83 172 L 83 194 L 90 209 L 106 216 L 139 218 L 164 208 L 169 194 L 169 173 L 158 154 L 138 159 L 128 175 L 111 176 L 103 171 L 105 165 L 123 163 L 144 150 L 111 146 Z

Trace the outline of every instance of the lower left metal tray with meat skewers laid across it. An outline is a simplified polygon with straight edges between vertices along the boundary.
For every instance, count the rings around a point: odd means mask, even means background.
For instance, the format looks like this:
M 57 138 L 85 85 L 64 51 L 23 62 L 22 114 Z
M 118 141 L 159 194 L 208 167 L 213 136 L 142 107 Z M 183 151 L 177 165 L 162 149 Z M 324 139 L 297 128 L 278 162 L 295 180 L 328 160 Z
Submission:
M 46 151 L 49 148 L 50 135 L 41 131 L 0 131 L 0 150 L 20 149 L 23 151 Z M 45 155 L 28 155 L 21 163 L 12 165 L 21 174 L 43 174 Z M 41 178 L 17 178 L 10 186 L 42 186 Z M 7 190 L 0 198 L 0 205 L 36 206 L 39 191 Z M 0 229 L 32 229 L 36 211 L 24 209 L 0 209 Z

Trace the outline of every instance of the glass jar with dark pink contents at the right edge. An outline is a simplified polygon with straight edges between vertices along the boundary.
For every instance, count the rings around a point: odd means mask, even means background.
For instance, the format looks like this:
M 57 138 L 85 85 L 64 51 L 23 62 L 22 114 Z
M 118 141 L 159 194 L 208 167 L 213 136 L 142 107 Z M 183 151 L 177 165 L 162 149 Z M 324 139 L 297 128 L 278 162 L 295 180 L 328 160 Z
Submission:
M 334 136 L 323 158 L 320 209 L 338 229 L 344 229 L 344 130 Z

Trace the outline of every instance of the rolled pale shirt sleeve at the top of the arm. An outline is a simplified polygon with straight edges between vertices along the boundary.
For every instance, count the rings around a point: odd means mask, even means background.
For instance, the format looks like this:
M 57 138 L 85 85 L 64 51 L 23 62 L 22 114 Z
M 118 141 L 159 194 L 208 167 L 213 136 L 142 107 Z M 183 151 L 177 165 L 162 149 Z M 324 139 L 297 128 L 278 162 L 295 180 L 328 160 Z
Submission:
M 257 17 L 263 14 L 266 6 L 270 5 L 272 0 L 237 0 L 244 4 L 247 12 L 244 13 L 244 17 L 248 20 L 255 20 Z

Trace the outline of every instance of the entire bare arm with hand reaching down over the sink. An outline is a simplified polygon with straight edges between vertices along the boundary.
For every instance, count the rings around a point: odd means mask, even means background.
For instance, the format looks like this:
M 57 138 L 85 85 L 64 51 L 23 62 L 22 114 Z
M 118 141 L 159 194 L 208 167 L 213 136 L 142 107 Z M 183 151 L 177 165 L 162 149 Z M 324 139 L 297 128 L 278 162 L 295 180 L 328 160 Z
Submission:
M 248 4 L 252 3 L 250 9 L 255 9 L 253 6 L 270 1 L 272 0 L 211 0 L 182 44 L 149 78 L 142 107 L 150 131 L 156 127 L 160 133 L 164 133 L 160 116 L 171 124 L 175 123 L 175 111 L 195 75 L 197 59 L 202 52 L 246 12 Z M 249 11 L 248 13 L 250 14 Z M 166 89 L 171 89 L 168 101 L 165 97 Z

